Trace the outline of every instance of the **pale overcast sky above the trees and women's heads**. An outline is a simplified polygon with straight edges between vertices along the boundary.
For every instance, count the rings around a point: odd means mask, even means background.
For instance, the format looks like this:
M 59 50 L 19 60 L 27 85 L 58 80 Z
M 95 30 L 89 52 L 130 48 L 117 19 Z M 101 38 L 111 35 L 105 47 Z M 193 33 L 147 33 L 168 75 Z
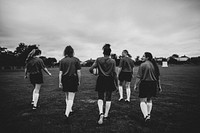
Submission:
M 200 0 L 0 0 L 0 46 L 39 44 L 63 57 L 71 45 L 84 61 L 127 49 L 156 57 L 200 56 Z

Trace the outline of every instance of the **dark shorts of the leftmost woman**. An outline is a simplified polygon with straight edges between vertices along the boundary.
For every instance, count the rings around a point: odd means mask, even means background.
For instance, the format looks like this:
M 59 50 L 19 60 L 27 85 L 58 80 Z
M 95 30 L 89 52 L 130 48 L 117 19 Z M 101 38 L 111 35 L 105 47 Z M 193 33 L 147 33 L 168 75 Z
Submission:
M 30 82 L 35 86 L 35 84 L 42 84 L 43 83 L 43 75 L 42 73 L 37 74 L 30 74 L 29 75 Z

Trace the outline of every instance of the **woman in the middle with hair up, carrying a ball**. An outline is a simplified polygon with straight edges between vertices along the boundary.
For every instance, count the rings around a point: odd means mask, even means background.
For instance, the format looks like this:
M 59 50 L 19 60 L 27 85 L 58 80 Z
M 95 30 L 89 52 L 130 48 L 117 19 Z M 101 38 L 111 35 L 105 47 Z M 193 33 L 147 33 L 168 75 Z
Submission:
M 89 71 L 92 73 L 93 69 L 97 68 L 99 76 L 96 83 L 96 91 L 98 92 L 98 108 L 99 108 L 99 120 L 98 124 L 103 124 L 103 118 L 108 118 L 108 113 L 111 107 L 111 95 L 116 90 L 116 63 L 114 59 L 110 58 L 111 48 L 110 44 L 105 44 L 103 47 L 103 57 L 96 59 Z M 104 94 L 105 94 L 105 113 L 103 113 L 104 107 Z

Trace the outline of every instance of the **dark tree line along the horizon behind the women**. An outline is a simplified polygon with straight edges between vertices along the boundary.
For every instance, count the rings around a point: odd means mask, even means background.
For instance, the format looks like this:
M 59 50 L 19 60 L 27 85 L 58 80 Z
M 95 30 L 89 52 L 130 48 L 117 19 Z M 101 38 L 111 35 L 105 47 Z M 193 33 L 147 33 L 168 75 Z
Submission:
M 5 47 L 0 46 L 0 67 L 24 67 L 25 66 L 25 60 L 28 56 L 28 54 L 33 49 L 39 49 L 39 45 L 33 44 L 33 45 L 26 45 L 25 43 L 19 43 L 18 46 L 14 51 L 10 51 Z M 183 57 L 183 56 L 182 56 Z M 186 56 L 185 56 L 186 57 Z M 47 67 L 54 67 L 55 65 L 58 65 L 56 58 L 54 57 L 40 57 L 44 64 Z M 116 65 L 119 65 L 121 56 L 117 56 L 116 54 L 111 54 L 111 58 L 115 59 Z M 186 61 L 179 61 L 177 60 L 179 58 L 179 55 L 173 54 L 172 56 L 168 58 L 155 58 L 158 64 L 162 64 L 163 61 L 167 61 L 168 64 L 200 64 L 200 57 L 191 57 L 188 58 Z M 89 59 L 82 63 L 82 66 L 90 67 L 95 60 Z M 135 65 L 140 65 L 142 63 L 142 60 L 139 56 L 137 56 L 134 59 Z

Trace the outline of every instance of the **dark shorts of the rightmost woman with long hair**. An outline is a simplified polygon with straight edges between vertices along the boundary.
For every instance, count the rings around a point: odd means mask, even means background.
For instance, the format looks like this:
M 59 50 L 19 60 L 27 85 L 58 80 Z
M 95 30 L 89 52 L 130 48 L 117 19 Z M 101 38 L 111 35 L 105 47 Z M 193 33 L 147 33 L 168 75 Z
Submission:
M 139 98 L 156 97 L 157 81 L 141 81 L 139 85 Z

